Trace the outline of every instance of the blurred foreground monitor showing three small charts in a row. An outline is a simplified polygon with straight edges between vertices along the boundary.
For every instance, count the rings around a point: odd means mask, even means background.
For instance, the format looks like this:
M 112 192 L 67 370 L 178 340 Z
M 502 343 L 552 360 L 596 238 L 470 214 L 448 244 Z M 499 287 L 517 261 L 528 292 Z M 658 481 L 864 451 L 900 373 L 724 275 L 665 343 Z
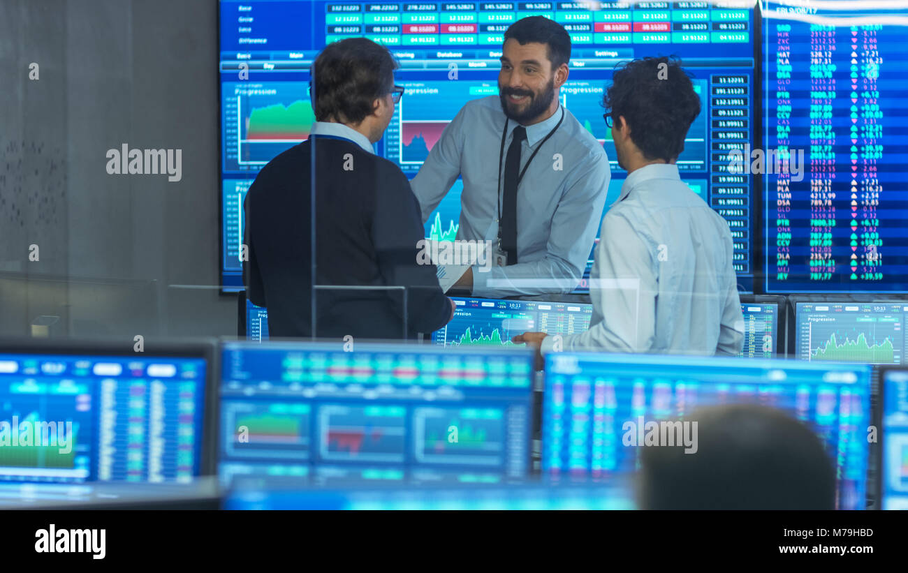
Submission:
M 319 485 L 523 479 L 531 359 L 524 348 L 224 344 L 219 474 Z

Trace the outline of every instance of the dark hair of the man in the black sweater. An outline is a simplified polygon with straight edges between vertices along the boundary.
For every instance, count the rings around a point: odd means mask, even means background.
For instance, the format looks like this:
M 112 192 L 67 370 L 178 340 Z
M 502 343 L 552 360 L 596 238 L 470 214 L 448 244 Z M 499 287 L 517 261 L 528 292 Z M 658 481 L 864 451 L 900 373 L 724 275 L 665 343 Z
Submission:
M 312 65 L 312 109 L 317 121 L 360 123 L 372 102 L 391 92 L 398 63 L 388 48 L 366 38 L 325 46 Z

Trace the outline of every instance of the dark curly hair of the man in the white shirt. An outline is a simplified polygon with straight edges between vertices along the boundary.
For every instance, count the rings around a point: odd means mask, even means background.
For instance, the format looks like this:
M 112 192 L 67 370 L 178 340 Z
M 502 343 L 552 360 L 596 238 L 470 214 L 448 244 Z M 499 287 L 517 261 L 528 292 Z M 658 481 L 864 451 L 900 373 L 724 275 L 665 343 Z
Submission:
M 647 160 L 675 160 L 684 151 L 690 124 L 700 114 L 694 84 L 673 57 L 646 57 L 620 66 L 602 105 L 612 121 L 624 116 Z

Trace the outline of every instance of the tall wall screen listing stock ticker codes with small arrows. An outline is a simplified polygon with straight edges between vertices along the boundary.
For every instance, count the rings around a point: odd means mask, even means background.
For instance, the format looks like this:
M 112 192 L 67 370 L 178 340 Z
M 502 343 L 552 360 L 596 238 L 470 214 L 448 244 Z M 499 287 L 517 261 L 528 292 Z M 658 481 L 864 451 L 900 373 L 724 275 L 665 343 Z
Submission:
M 765 291 L 906 292 L 908 54 L 886 24 L 904 7 L 765 5 L 765 150 L 784 158 L 765 161 Z

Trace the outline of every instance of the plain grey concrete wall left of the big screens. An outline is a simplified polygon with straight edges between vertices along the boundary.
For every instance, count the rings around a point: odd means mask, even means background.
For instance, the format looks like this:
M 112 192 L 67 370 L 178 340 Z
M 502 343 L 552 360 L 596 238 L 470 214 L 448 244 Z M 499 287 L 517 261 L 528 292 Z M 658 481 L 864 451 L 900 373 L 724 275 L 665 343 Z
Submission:
M 68 335 L 235 333 L 215 288 L 217 9 L 0 0 L 0 334 L 38 315 Z M 182 180 L 109 175 L 123 143 L 183 150 Z

